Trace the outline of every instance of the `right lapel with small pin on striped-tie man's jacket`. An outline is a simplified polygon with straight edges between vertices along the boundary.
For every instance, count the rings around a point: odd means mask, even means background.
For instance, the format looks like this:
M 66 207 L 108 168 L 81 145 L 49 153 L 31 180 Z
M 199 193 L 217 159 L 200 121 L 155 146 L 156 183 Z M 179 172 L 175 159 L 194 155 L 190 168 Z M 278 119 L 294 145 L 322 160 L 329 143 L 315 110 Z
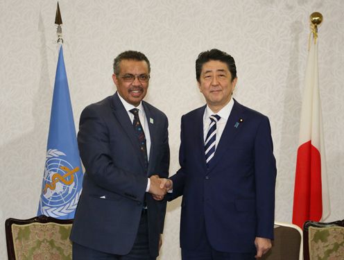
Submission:
M 232 112 L 230 112 L 230 116 L 228 117 L 225 129 L 223 130 L 221 139 L 218 142 L 214 158 L 211 160 L 211 164 L 209 166 L 209 171 L 211 171 L 212 168 L 214 168 L 214 166 L 218 164 L 225 151 L 230 148 L 230 145 L 234 140 L 236 134 L 241 130 L 240 119 L 242 119 L 243 121 L 245 120 L 243 114 L 243 106 L 234 100 Z

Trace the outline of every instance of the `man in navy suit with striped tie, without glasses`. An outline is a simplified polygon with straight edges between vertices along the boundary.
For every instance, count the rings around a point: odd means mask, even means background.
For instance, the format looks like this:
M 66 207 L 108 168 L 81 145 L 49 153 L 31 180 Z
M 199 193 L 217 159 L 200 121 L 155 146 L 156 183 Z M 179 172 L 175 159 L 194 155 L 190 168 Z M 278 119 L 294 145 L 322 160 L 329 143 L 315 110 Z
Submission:
M 196 78 L 207 105 L 182 116 L 181 168 L 161 186 L 171 189 L 168 200 L 183 196 L 182 259 L 261 257 L 271 247 L 274 225 L 270 123 L 232 98 L 237 78 L 231 55 L 200 53 Z

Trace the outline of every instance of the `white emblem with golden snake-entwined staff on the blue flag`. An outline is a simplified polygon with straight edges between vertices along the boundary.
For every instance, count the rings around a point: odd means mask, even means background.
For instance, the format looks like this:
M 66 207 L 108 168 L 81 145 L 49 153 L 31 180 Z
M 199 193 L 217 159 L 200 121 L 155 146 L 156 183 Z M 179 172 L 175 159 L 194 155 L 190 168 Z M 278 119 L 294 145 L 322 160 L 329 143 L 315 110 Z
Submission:
M 46 164 L 42 184 L 41 208 L 46 216 L 65 216 L 76 209 L 80 197 L 82 175 L 78 166 L 73 166 L 65 155 L 56 149 L 46 153 Z M 79 176 L 79 177 L 78 177 Z

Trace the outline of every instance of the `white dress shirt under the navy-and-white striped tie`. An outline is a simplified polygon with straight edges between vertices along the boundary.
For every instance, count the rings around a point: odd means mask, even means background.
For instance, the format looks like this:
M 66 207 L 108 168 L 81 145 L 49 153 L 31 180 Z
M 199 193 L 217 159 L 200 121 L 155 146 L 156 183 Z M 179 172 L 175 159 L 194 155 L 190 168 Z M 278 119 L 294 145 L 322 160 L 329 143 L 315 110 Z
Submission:
M 205 108 L 205 112 L 203 114 L 203 137 L 204 137 L 204 142 L 205 138 L 207 137 L 207 133 L 209 131 L 209 125 L 212 122 L 209 119 L 209 116 L 212 116 L 213 114 L 217 114 L 218 116 L 221 116 L 221 119 L 218 120 L 216 123 L 216 143 L 215 143 L 215 149 L 218 146 L 218 142 L 221 139 L 221 135 L 223 133 L 223 130 L 225 129 L 225 125 L 227 123 L 228 117 L 230 117 L 230 112 L 232 112 L 232 108 L 234 105 L 234 99 L 230 98 L 230 102 L 227 103 L 220 111 L 217 113 L 212 112 L 210 107 Z

